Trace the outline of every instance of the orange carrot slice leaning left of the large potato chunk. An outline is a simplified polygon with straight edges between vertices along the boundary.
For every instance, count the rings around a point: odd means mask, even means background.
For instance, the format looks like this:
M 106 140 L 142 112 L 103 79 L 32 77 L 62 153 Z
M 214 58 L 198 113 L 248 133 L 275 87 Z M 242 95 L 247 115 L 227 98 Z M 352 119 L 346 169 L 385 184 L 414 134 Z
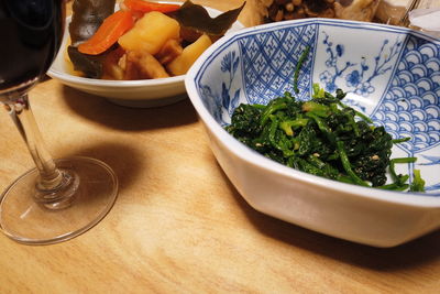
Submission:
M 133 25 L 132 13 L 119 10 L 108 17 L 89 40 L 79 44 L 78 51 L 90 55 L 101 54 L 110 48 Z

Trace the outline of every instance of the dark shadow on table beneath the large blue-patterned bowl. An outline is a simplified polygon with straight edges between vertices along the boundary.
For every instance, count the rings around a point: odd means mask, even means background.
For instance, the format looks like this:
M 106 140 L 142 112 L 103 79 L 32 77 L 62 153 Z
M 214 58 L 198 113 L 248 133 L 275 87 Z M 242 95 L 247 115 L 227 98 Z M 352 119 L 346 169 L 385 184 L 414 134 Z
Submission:
M 220 168 L 220 167 L 219 167 Z M 252 225 L 267 237 L 280 240 L 358 266 L 377 271 L 393 271 L 432 262 L 440 258 L 440 230 L 394 248 L 374 248 L 318 233 L 264 215 L 252 208 L 223 174 Z

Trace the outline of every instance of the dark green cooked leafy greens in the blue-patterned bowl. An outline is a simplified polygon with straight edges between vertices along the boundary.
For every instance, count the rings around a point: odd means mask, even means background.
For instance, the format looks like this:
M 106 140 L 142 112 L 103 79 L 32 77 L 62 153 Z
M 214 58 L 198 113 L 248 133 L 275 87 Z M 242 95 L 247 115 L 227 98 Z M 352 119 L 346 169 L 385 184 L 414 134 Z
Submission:
M 226 130 L 264 156 L 314 175 L 383 189 L 424 192 L 420 172 L 397 174 L 395 165 L 416 157 L 391 159 L 393 140 L 384 127 L 375 127 L 361 112 L 314 85 L 308 101 L 298 101 L 290 92 L 268 105 L 240 105 Z M 387 183 L 389 172 L 392 183 Z

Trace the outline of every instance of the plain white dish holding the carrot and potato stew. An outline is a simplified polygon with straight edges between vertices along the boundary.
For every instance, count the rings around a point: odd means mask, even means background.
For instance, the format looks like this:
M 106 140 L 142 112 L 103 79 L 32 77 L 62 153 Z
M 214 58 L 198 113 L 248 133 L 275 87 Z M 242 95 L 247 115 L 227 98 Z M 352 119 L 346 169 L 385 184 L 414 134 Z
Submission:
M 172 1 L 160 2 L 182 4 L 182 2 Z M 206 7 L 206 10 L 212 18 L 222 13 L 212 8 Z M 69 22 L 70 18 L 66 21 L 66 28 L 68 28 Z M 228 33 L 235 32 L 243 28 L 243 24 L 237 21 Z M 68 30 L 66 30 L 59 53 L 47 73 L 48 76 L 58 79 L 66 86 L 88 94 L 106 97 L 117 105 L 128 107 L 158 107 L 177 102 L 187 97 L 184 84 L 185 75 L 141 80 L 105 80 L 72 75 L 69 70 L 70 65 L 66 62 L 68 40 L 69 33 Z

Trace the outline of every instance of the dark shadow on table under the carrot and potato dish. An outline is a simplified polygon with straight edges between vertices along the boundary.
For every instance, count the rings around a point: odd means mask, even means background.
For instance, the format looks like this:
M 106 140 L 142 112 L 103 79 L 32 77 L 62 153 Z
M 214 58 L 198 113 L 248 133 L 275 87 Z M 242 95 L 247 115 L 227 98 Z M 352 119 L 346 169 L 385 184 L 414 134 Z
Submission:
M 63 91 L 67 106 L 78 116 L 117 130 L 162 129 L 197 121 L 189 99 L 156 108 L 129 108 L 70 87 L 64 86 Z

